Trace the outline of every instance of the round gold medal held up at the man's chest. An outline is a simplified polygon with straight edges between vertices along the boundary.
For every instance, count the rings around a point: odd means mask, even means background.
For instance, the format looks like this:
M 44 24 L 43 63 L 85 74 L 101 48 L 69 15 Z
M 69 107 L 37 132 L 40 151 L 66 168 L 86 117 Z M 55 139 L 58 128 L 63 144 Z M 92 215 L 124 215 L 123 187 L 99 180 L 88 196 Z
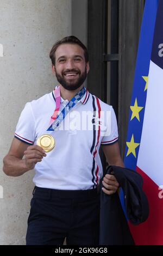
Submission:
M 55 141 L 51 135 L 45 134 L 37 139 L 37 145 L 45 150 L 45 152 L 49 152 L 55 147 Z

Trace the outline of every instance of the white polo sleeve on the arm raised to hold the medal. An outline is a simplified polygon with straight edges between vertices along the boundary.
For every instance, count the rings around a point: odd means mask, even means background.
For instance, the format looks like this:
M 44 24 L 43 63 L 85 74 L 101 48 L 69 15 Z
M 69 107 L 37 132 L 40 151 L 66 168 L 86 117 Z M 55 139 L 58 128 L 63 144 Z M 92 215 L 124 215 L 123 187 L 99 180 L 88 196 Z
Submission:
M 35 141 L 35 119 L 30 102 L 26 103 L 18 119 L 15 138 L 30 145 Z

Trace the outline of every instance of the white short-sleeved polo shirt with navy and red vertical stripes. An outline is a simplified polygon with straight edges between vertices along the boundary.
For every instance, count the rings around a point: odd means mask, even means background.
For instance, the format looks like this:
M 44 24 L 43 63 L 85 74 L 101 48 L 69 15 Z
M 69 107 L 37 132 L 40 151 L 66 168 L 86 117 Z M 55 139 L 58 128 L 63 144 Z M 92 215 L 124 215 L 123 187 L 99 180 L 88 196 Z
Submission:
M 67 102 L 61 99 L 60 111 Z M 103 175 L 99 147 L 118 140 L 114 110 L 86 89 L 82 99 L 62 121 L 62 127 L 47 131 L 54 109 L 53 91 L 28 102 L 16 126 L 15 137 L 29 145 L 36 144 L 37 138 L 43 134 L 50 134 L 55 139 L 55 148 L 35 164 L 33 182 L 38 187 L 56 190 L 95 188 Z M 89 113 L 87 116 L 91 122 L 86 121 L 85 113 Z M 110 115 L 104 118 L 103 113 Z M 110 127 L 109 132 L 106 127 Z

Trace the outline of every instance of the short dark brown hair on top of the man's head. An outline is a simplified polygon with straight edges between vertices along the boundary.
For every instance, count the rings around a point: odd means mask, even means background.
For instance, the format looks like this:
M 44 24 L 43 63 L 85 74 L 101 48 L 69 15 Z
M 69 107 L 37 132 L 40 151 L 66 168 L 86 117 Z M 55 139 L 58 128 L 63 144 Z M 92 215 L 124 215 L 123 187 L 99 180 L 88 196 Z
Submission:
M 55 65 L 55 51 L 62 44 L 76 44 L 76 45 L 79 45 L 84 50 L 85 62 L 89 62 L 89 54 L 87 52 L 86 46 L 83 44 L 83 42 L 81 42 L 78 38 L 76 38 L 76 36 L 70 35 L 70 36 L 66 36 L 65 38 L 61 39 L 60 41 L 55 42 L 55 44 L 53 45 L 52 50 L 49 54 L 49 57 L 51 58 L 53 65 Z

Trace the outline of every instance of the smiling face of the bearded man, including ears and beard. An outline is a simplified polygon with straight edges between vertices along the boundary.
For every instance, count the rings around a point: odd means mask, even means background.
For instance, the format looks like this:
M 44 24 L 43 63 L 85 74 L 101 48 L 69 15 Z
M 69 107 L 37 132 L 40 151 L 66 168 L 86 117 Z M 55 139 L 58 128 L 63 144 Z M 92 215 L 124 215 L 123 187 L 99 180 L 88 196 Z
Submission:
M 53 72 L 58 82 L 67 90 L 76 90 L 84 83 L 89 72 L 84 50 L 77 44 L 62 44 L 55 51 Z

